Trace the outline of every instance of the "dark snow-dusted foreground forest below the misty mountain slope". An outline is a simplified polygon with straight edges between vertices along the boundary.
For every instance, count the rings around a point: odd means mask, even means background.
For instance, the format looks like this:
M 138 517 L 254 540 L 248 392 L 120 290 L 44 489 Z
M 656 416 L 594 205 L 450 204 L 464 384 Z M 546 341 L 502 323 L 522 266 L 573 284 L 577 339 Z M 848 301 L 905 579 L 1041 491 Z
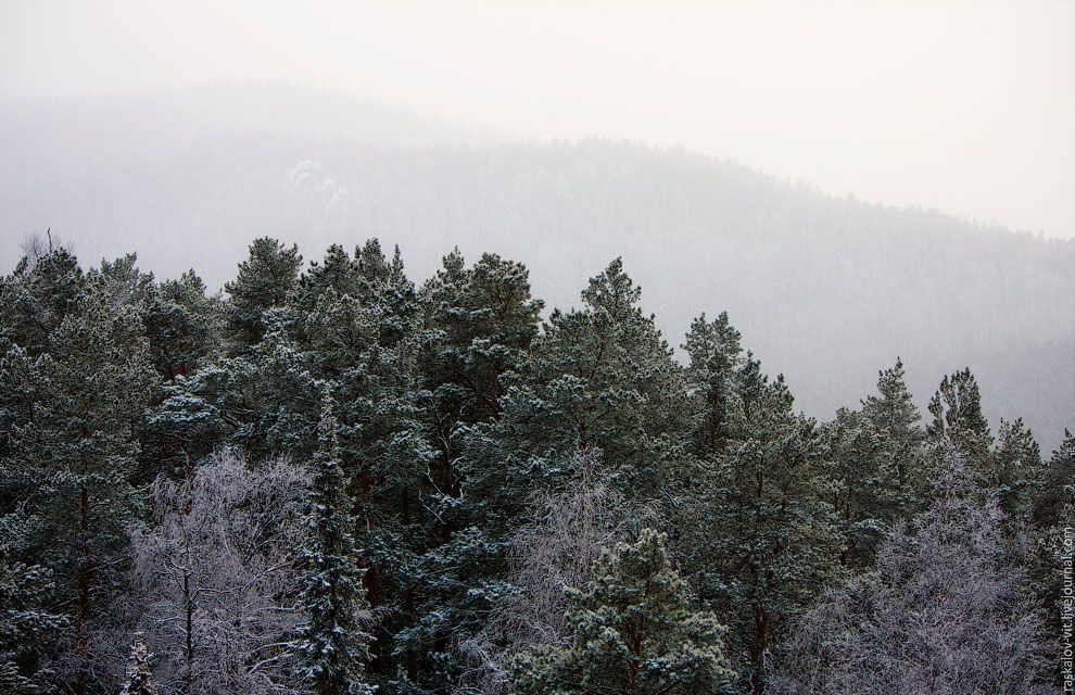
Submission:
M 1075 438 L 895 354 L 808 417 L 624 266 L 559 309 L 492 253 L 265 237 L 211 293 L 27 244 L 0 692 L 1055 692 Z

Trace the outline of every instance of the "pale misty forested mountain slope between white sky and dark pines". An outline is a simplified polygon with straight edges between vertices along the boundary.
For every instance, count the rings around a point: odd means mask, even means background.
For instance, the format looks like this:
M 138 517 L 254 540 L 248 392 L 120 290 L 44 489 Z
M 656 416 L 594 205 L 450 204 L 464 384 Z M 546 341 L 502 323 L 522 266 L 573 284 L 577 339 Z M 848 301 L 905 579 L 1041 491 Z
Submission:
M 194 267 L 220 287 L 255 236 L 306 258 L 376 236 L 416 278 L 454 245 L 518 258 L 538 295 L 568 307 L 622 255 L 672 345 L 694 316 L 726 309 L 810 414 L 857 405 L 901 355 L 922 406 L 970 365 L 995 427 L 1022 415 L 1051 446 L 1075 426 L 1075 242 L 835 199 L 682 150 L 479 141 L 419 119 L 329 137 L 347 108 L 304 130 L 302 110 L 177 129 L 148 98 L 91 116 L 9 105 L 0 262 L 51 226 L 86 262 L 135 250 L 159 275 Z M 117 118 L 138 125 L 130 137 Z M 155 139 L 157 126 L 173 135 Z

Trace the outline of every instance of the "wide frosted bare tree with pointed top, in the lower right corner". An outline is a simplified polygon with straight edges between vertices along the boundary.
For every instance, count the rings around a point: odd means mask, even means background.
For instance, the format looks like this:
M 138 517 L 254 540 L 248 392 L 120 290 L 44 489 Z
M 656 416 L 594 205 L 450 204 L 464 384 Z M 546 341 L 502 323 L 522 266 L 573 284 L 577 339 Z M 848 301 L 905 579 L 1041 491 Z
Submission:
M 877 566 L 822 596 L 771 681 L 796 695 L 1033 695 L 1049 685 L 1049 642 L 1026 579 L 1026 548 L 1006 538 L 949 454 L 932 508 L 901 525 Z

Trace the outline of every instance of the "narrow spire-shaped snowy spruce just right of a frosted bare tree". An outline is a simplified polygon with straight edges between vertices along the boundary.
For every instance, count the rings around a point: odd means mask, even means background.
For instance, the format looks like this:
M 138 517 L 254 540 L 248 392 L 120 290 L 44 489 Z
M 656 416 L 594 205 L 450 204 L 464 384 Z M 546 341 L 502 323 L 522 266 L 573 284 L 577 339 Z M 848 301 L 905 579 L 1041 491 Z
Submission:
M 368 608 L 353 520 L 339 460 L 338 424 L 332 401 L 325 399 L 318 428 L 318 451 L 311 481 L 311 548 L 301 603 L 309 614 L 299 631 L 295 653 L 317 695 L 371 693 L 364 668 L 370 636 L 363 624 Z

